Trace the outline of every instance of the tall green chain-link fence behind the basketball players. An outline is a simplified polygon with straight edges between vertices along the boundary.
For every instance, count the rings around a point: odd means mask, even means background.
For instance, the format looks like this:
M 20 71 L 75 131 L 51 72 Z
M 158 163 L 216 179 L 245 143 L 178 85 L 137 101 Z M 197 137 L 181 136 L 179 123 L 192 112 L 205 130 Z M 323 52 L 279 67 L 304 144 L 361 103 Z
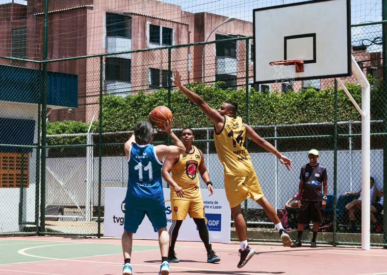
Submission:
M 134 20 L 140 15 L 132 16 Z M 384 21 L 364 23 L 363 14 L 355 12 L 354 16 L 361 17 L 356 22 L 363 23 L 352 27 L 352 55 L 372 86 L 371 244 L 385 245 L 386 220 L 381 211 L 386 205 L 381 204 L 379 192 L 387 182 L 383 155 L 387 150 Z M 150 22 L 150 29 L 157 27 L 152 26 Z M 184 26 L 180 26 L 181 32 Z M 167 27 L 164 31 L 152 29 L 147 49 L 121 51 L 118 39 L 130 37 L 118 33 L 105 37 L 106 54 L 32 62 L 17 59 L 26 55 L 19 53 L 16 58 L 0 59 L 0 197 L 6 205 L 0 213 L 0 236 L 102 236 L 105 188 L 127 186 L 123 144 L 135 123 L 146 119 L 158 105 L 172 110 L 175 128 L 194 128 L 194 144 L 204 154 L 214 188 L 223 188 L 212 122 L 173 87 L 169 78 L 172 70 L 178 69 L 183 84 L 211 107 L 217 109 L 225 100 L 237 102 L 238 115 L 292 159 L 293 169 L 287 171 L 259 145 L 251 140 L 245 144 L 266 197 L 288 217 L 286 225 L 291 228 L 292 239 L 297 234 L 299 210 L 285 205 L 298 192 L 300 169 L 308 163 L 307 152 L 316 148 L 328 176 L 325 220 L 317 240 L 334 245 L 359 244 L 360 115 L 334 79 L 254 85 L 251 36 L 216 34 L 214 41 L 207 43 L 189 43 L 186 37 L 174 44 L 168 32 Z M 20 37 L 23 32 L 14 35 Z M 84 53 L 83 46 L 72 51 Z M 361 89 L 356 79 L 342 81 L 360 104 Z M 155 142 L 169 143 L 163 133 L 156 135 Z M 201 188 L 205 188 L 203 183 Z M 278 240 L 273 223 L 259 205 L 248 199 L 242 207 L 249 240 Z M 232 218 L 230 222 L 231 238 L 235 240 Z M 311 224 L 304 228 L 303 239 L 311 239 Z

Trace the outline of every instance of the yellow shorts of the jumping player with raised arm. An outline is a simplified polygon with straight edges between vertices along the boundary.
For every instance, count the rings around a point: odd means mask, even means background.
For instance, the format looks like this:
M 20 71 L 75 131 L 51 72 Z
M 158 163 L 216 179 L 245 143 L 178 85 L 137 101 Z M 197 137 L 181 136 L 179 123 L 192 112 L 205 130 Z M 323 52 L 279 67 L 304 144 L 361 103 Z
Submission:
M 224 189 L 230 208 L 240 205 L 248 197 L 256 201 L 264 196 L 255 173 L 251 176 L 224 175 Z

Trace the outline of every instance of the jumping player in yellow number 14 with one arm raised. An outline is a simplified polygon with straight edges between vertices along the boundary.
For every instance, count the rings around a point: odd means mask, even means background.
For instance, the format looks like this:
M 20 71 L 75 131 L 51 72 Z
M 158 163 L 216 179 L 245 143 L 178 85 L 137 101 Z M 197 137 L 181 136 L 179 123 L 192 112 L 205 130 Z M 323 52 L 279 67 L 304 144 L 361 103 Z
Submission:
M 182 86 L 180 73 L 177 70 L 173 71 L 173 76 L 174 78 L 171 78 L 173 84 L 199 106 L 214 122 L 216 152 L 224 166 L 224 189 L 231 208 L 231 215 L 234 217 L 235 230 L 241 244 L 241 249 L 239 250 L 241 259 L 238 263 L 238 268 L 243 267 L 255 253 L 254 249 L 247 245 L 246 222 L 241 210 L 241 203 L 248 197 L 257 202 L 273 221 L 283 246 L 291 245 L 292 241 L 289 235 L 283 230 L 277 213 L 261 190 L 260 183 L 252 167 L 250 155 L 243 146 L 246 136 L 268 152 L 274 154 L 280 163 L 286 165 L 288 170 L 293 167 L 292 161 L 279 153 L 273 145 L 255 133 L 250 126 L 242 122 L 242 119 L 236 115 L 238 108 L 236 103 L 225 102 L 220 106 L 219 110 L 215 110 L 208 106 L 199 95 Z

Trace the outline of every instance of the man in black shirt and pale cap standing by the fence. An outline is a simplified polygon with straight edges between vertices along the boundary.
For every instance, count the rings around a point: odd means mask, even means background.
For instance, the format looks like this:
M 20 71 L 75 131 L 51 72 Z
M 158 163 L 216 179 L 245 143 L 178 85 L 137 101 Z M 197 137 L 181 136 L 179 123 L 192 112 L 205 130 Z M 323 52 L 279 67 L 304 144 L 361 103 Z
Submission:
M 300 247 L 304 223 L 313 220 L 313 239 L 311 247 L 317 247 L 316 236 L 319 231 L 319 224 L 323 220 L 323 209 L 326 207 L 326 193 L 328 191 L 326 169 L 317 163 L 319 152 L 312 149 L 308 153 L 309 163 L 301 167 L 300 185 L 298 187 L 298 204 L 300 216 L 298 218 L 298 237 L 290 247 Z M 322 188 L 324 187 L 324 196 Z M 301 201 L 302 194 L 302 201 Z

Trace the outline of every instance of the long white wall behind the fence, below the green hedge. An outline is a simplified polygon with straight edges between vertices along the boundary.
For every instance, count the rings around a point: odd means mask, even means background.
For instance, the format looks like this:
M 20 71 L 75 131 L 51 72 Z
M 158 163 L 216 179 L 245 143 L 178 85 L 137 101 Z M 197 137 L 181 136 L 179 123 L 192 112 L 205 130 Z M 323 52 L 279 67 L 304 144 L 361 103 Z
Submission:
M 281 208 L 285 202 L 293 196 L 298 190 L 299 174 L 301 166 L 308 162 L 307 152 L 287 152 L 285 155 L 293 161 L 293 169 L 288 171 L 286 167 L 278 163 L 278 170 L 275 170 L 276 158 L 270 153 L 252 153 L 251 159 L 261 187 L 276 208 Z M 328 195 L 333 194 L 333 151 L 320 151 L 319 163 L 324 165 L 328 174 Z M 375 178 L 376 187 L 382 187 L 383 179 L 383 153 L 382 150 L 371 150 L 371 176 Z M 338 152 L 338 195 L 351 190 L 350 171 L 352 170 L 352 190 L 358 191 L 361 186 L 361 152 L 352 151 L 353 167 L 350 167 L 349 151 Z M 73 194 L 74 198 L 80 205 L 85 205 L 86 201 L 86 158 L 61 158 L 47 159 L 47 166 L 61 181 L 66 181 L 71 177 L 71 174 L 83 162 L 81 169 L 74 175 L 71 181 L 66 185 L 69 193 Z M 209 160 L 207 155 L 204 155 L 205 164 L 208 167 L 211 181 L 215 188 L 223 188 L 223 166 L 221 165 L 217 155 L 210 154 Z M 277 175 L 277 194 L 275 179 Z M 47 173 L 47 195 L 46 202 L 49 201 L 49 196 L 56 192 L 57 199 L 54 199 L 52 204 L 72 204 L 68 196 L 59 188 L 58 183 Z M 127 162 L 125 157 L 104 157 L 102 158 L 102 202 L 104 205 L 104 189 L 105 187 L 126 187 L 127 182 Z M 165 187 L 165 186 L 164 186 Z M 205 184 L 201 182 L 201 188 L 205 188 Z M 98 158 L 94 158 L 93 169 L 93 200 L 94 205 L 97 205 L 98 199 Z M 205 192 L 203 196 L 205 196 Z M 277 200 L 276 200 L 277 199 Z M 277 202 L 277 205 L 276 205 Z M 257 204 L 249 202 L 249 208 L 257 208 Z

